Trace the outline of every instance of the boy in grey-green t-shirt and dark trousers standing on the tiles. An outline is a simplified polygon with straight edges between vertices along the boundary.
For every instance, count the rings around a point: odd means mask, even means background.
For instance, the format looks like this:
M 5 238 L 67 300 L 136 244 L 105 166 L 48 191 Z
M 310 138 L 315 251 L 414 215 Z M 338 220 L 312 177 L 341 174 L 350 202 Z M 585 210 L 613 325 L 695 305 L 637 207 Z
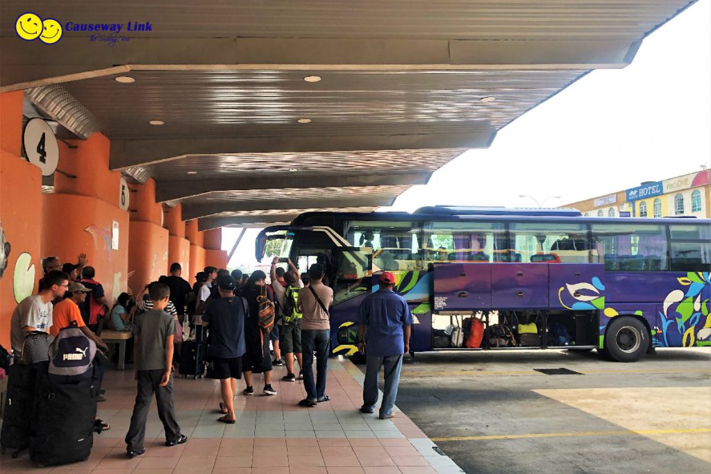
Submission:
M 151 287 L 150 296 L 153 309 L 139 316 L 134 335 L 134 378 L 138 381 L 138 393 L 134 404 L 131 426 L 126 433 L 127 456 L 141 456 L 146 452 L 146 417 L 151 406 L 153 394 L 156 394 L 158 414 L 166 432 L 166 446 L 176 446 L 188 441 L 181 434 L 176 421 L 173 404 L 173 334 L 176 331 L 175 319 L 164 311 L 168 305 L 170 289 L 166 284 Z

